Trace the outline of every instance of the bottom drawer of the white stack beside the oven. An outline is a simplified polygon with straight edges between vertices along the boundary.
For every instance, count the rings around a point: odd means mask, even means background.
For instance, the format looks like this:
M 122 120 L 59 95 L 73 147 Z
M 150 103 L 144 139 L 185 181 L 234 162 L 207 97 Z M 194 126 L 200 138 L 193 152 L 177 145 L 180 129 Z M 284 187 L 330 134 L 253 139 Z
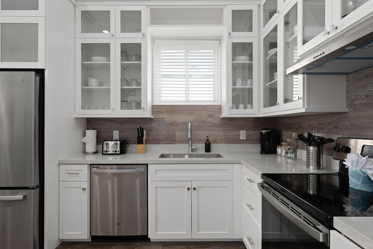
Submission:
M 246 248 L 260 249 L 261 248 L 261 230 L 254 222 L 253 217 L 247 212 L 244 212 L 244 243 Z

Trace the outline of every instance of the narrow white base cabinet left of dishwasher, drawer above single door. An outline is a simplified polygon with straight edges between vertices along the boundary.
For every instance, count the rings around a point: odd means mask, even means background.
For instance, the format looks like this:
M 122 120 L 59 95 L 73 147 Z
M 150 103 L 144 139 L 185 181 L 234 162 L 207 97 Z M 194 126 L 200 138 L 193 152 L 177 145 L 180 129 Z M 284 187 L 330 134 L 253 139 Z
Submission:
M 83 170 L 82 170 L 83 169 Z M 80 181 L 82 171 L 86 177 Z M 77 175 L 78 178 L 66 178 Z M 89 234 L 89 182 L 88 165 L 60 165 L 60 239 L 88 239 Z M 77 181 L 78 180 L 78 181 Z

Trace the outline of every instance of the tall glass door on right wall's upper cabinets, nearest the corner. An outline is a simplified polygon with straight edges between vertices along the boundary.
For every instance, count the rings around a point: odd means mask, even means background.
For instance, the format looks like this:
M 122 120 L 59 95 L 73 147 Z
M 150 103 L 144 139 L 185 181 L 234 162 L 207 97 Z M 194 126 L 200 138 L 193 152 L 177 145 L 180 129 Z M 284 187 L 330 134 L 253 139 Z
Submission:
M 264 103 L 263 110 L 278 105 L 278 82 L 277 82 L 277 25 L 268 32 L 263 39 L 263 84 Z

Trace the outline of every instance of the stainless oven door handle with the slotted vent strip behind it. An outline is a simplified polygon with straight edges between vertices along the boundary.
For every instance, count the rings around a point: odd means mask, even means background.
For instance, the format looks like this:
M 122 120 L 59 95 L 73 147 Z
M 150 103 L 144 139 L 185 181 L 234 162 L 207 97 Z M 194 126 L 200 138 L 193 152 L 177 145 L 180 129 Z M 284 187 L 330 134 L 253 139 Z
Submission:
M 265 190 L 266 188 L 266 190 Z M 285 215 L 286 218 L 291 220 L 295 225 L 302 228 L 305 232 L 310 234 L 319 242 L 324 242 L 329 245 L 329 230 L 321 225 L 319 222 L 306 214 L 303 210 L 298 208 L 288 199 L 279 194 L 276 190 L 272 189 L 265 183 L 258 183 L 258 189 L 261 194 L 278 210 L 281 214 Z M 270 194 L 268 191 L 272 192 Z M 276 197 L 273 197 L 273 196 Z M 277 199 L 279 197 L 280 200 Z M 282 201 L 281 201 L 282 200 Z M 287 205 L 284 205 L 285 202 Z M 299 217 L 300 215 L 301 217 Z M 308 221 L 308 223 L 306 222 Z M 309 224 L 309 223 L 313 223 Z

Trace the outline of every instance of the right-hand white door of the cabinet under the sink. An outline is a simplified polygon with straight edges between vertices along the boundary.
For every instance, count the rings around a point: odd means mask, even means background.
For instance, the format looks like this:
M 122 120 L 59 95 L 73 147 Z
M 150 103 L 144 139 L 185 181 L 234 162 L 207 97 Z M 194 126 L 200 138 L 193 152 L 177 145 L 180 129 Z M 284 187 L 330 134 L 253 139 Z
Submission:
M 233 238 L 233 181 L 192 181 L 192 238 Z

